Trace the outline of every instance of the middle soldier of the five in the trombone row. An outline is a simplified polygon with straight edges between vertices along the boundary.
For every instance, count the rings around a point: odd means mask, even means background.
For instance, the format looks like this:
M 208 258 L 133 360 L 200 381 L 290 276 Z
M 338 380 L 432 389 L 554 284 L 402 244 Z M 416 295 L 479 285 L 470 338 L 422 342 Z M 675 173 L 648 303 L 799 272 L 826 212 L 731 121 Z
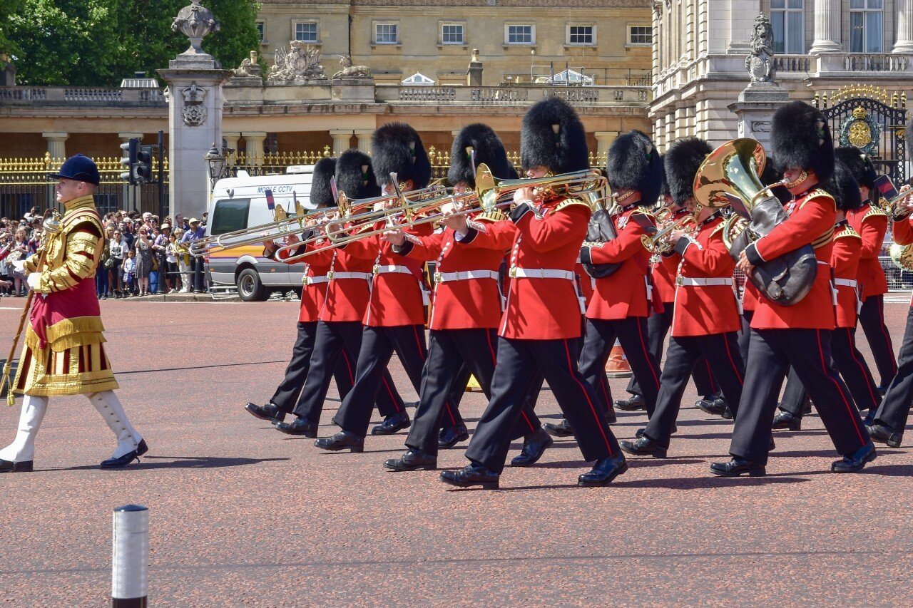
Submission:
M 425 188 L 431 179 L 431 163 L 422 139 L 415 129 L 402 122 L 390 122 L 372 136 L 373 172 L 383 194 L 394 194 L 399 181 L 403 192 Z M 387 220 L 377 222 L 381 228 Z M 431 225 L 406 228 L 415 236 L 431 234 Z M 396 351 L 416 393 L 421 393 L 422 368 L 425 366 L 425 305 L 427 292 L 422 264 L 394 252 L 393 245 L 380 235 L 368 236 L 341 246 L 352 257 L 373 261 L 373 278 L 368 307 L 364 313 L 362 350 L 358 355 L 355 384 L 333 421 L 342 430 L 331 437 L 318 439 L 321 449 L 348 449 L 362 452 L 364 436 L 371 422 L 371 411 L 383 385 L 383 373 Z M 396 433 L 412 424 L 404 408 L 387 416 L 374 435 Z

